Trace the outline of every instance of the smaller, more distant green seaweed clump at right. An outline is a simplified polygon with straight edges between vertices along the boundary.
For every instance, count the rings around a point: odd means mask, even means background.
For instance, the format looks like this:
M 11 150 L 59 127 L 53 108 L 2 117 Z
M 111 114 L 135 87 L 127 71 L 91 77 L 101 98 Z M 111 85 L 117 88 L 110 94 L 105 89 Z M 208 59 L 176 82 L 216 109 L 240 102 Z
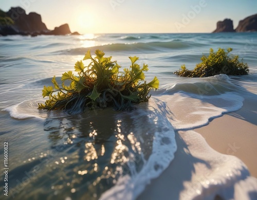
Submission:
M 181 69 L 175 71 L 174 74 L 181 77 L 210 77 L 219 74 L 247 75 L 249 72 L 247 63 L 243 63 L 243 59 L 240 62 L 238 56 L 228 56 L 231 51 L 232 48 L 228 48 L 227 51 L 219 48 L 217 52 L 214 52 L 211 48 L 209 56 L 203 55 L 202 62 L 196 64 L 193 70 L 182 65 Z

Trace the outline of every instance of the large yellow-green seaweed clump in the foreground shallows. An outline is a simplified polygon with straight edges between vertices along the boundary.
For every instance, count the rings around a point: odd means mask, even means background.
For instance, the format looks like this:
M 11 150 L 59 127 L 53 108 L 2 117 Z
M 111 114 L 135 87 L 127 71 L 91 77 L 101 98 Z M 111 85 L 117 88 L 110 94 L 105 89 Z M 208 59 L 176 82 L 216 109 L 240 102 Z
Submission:
M 75 64 L 75 76 L 72 71 L 62 74 L 62 86 L 52 78 L 53 86 L 44 86 L 43 97 L 49 97 L 45 103 L 39 103 L 39 109 L 68 110 L 79 113 L 89 108 L 104 108 L 113 106 L 115 110 L 124 110 L 132 104 L 149 100 L 150 89 L 157 89 L 159 80 L 155 77 L 146 83 L 144 72 L 148 65 L 143 67 L 136 63 L 138 57 L 129 57 L 130 68 L 119 71 L 117 61 L 111 61 L 112 57 L 104 57 L 101 50 L 95 51 L 93 58 L 90 50 L 87 51 L 83 60 L 89 60 L 88 66 L 78 61 Z M 69 85 L 65 85 L 65 82 Z

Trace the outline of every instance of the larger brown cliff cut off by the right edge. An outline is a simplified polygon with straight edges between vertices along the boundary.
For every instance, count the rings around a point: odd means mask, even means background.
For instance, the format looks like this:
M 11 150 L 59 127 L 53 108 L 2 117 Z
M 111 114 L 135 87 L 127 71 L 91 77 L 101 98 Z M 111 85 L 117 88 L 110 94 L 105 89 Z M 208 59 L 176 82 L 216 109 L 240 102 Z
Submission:
M 241 20 L 235 29 L 236 32 L 257 31 L 257 14 L 246 17 Z

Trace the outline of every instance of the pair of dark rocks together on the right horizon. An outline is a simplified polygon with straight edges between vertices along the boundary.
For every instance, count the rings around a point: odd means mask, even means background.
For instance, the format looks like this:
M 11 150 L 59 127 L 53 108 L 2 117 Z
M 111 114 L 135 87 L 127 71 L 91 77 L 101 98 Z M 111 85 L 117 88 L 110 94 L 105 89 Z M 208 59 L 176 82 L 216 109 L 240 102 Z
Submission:
M 241 20 L 234 30 L 233 21 L 225 19 L 223 22 L 217 22 L 217 28 L 213 32 L 249 32 L 257 31 L 257 14 L 246 17 Z

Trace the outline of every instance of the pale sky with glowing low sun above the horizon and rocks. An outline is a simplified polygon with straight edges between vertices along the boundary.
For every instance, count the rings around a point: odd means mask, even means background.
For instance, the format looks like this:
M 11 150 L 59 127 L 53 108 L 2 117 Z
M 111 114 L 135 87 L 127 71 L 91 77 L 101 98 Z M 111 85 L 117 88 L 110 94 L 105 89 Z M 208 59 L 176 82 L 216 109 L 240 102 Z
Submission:
M 212 32 L 217 21 L 236 28 L 257 13 L 256 0 L 0 0 L 4 11 L 17 6 L 41 14 L 48 29 L 68 23 L 81 34 Z

